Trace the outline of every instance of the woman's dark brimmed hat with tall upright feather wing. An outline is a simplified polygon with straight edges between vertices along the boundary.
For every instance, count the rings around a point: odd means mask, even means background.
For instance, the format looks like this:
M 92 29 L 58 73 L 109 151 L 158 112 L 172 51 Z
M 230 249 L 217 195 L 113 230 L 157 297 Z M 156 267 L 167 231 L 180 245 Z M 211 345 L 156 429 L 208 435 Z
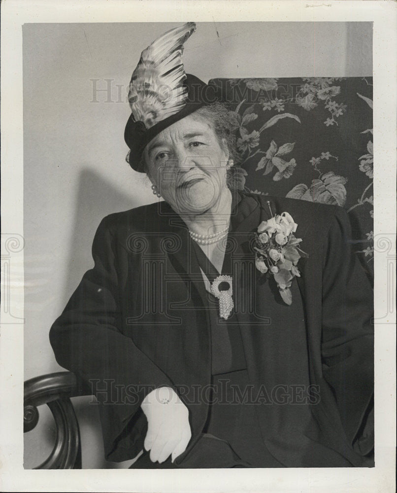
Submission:
M 142 152 L 156 135 L 217 100 L 213 87 L 183 68 L 183 44 L 195 31 L 194 22 L 167 31 L 142 51 L 132 72 L 128 92 L 131 115 L 124 140 L 130 148 L 126 160 L 135 171 L 144 172 Z

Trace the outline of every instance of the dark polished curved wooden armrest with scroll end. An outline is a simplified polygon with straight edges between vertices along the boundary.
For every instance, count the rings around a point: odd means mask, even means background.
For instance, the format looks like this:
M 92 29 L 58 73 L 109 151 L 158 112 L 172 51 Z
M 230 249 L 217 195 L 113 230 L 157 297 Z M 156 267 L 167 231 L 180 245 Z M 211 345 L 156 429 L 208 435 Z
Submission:
M 81 469 L 80 431 L 70 397 L 91 395 L 74 373 L 49 373 L 24 384 L 24 433 L 38 423 L 37 406 L 47 404 L 56 425 L 50 456 L 35 469 Z

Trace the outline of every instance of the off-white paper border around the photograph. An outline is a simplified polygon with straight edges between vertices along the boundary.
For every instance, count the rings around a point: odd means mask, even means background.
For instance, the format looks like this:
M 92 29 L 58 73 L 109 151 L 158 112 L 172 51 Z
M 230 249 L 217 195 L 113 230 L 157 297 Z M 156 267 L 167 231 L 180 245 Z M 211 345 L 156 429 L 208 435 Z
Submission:
M 153 8 L 153 3 L 156 8 Z M 263 12 L 263 16 L 258 14 Z M 1 323 L 0 461 L 3 491 L 394 492 L 396 454 L 397 3 L 377 0 L 5 0 L 1 4 L 1 233 L 23 238 L 22 25 L 38 22 L 373 22 L 375 467 L 173 470 L 25 470 L 23 324 Z M 321 76 L 325 74 L 320 74 Z M 9 304 L 23 317 L 23 247 Z M 14 257 L 13 257 L 14 261 Z M 3 278 L 2 278 L 3 281 Z M 1 290 L 3 292 L 3 289 Z M 389 302 L 392 300 L 392 304 Z M 4 300 L 2 300 L 4 301 Z

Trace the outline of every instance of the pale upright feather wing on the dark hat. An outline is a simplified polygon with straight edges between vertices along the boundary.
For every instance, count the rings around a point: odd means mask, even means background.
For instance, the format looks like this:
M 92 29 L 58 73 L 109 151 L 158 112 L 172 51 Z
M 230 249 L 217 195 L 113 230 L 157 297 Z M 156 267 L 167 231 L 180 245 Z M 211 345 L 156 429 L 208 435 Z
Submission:
M 135 121 L 153 127 L 180 111 L 187 99 L 183 81 L 183 44 L 196 31 L 194 22 L 171 29 L 150 44 L 132 72 L 128 101 Z

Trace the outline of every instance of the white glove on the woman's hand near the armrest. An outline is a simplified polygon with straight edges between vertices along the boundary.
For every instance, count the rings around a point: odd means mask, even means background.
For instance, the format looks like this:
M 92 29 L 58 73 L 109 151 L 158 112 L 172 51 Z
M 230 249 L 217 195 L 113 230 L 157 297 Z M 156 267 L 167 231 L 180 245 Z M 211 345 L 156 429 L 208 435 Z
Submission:
M 186 450 L 192 437 L 188 408 L 170 387 L 152 390 L 141 408 L 148 422 L 143 446 L 150 450 L 150 460 L 161 464 L 172 454 L 173 462 Z

